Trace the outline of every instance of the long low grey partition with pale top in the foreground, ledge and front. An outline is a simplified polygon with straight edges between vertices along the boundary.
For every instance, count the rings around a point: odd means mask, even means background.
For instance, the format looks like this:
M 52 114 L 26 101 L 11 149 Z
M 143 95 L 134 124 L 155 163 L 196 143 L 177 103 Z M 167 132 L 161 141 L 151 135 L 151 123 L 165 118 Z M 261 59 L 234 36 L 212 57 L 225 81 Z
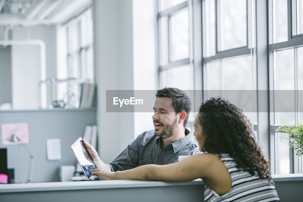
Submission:
M 303 174 L 272 175 L 281 201 L 303 201 Z M 204 201 L 204 183 L 109 180 L 0 185 L 0 201 Z

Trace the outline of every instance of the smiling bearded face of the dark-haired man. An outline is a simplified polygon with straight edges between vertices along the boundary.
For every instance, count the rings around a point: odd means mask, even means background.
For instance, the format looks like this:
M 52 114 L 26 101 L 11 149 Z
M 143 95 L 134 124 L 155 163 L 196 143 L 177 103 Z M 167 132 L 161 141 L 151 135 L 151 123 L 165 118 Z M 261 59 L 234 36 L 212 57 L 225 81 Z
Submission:
M 155 135 L 163 139 L 173 136 L 178 128 L 178 116 L 172 106 L 170 97 L 158 97 L 154 105 L 154 115 L 152 116 Z

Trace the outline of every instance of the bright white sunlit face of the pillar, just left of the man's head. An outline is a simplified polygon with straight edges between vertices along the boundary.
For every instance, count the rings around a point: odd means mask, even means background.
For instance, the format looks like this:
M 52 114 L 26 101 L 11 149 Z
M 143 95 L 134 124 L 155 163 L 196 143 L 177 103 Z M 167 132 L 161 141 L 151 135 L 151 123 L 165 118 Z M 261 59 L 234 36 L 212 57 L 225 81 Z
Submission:
M 154 0 L 133 0 L 134 89 L 158 89 L 157 9 Z M 154 129 L 151 113 L 134 113 L 135 137 Z

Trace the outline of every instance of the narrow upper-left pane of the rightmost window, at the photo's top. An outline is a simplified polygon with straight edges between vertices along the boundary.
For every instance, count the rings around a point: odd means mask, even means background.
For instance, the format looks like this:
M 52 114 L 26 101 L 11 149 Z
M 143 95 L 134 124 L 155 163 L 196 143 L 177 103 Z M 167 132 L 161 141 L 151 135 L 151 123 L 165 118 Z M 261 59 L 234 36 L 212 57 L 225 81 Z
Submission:
M 288 40 L 287 0 L 272 0 L 273 42 Z

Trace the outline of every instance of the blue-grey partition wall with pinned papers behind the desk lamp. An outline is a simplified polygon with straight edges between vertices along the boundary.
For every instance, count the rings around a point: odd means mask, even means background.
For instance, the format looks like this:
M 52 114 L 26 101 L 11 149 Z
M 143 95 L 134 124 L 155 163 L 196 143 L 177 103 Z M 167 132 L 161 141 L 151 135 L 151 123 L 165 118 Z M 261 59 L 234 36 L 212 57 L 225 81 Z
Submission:
M 35 157 L 32 182 L 57 182 L 58 168 L 65 165 L 76 165 L 77 160 L 71 145 L 81 136 L 86 125 L 96 124 L 96 111 L 78 110 L 32 110 L 2 111 L 0 124 L 28 123 L 29 144 L 26 146 Z M 1 134 L 1 133 L 0 133 Z M 61 160 L 46 159 L 46 140 L 61 140 Z M 15 182 L 25 182 L 28 178 L 29 155 L 20 145 L 2 145 L 7 148 L 8 168 L 15 169 Z

